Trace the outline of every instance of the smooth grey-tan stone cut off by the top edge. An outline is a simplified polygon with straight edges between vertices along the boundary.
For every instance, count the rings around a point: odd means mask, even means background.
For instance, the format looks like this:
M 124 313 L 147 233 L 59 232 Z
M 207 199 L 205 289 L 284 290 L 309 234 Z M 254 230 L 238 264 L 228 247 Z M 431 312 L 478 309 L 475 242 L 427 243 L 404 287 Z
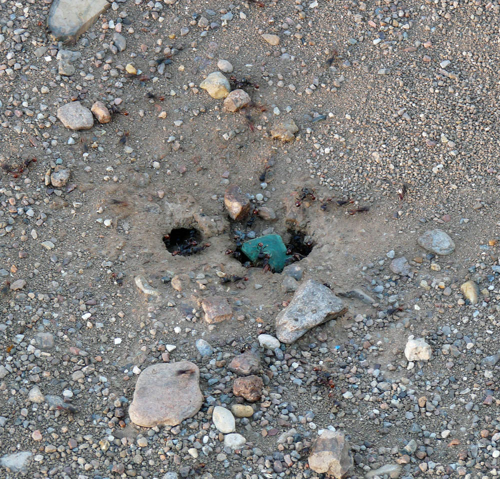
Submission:
M 54 0 L 47 20 L 51 39 L 65 44 L 76 43 L 109 6 L 105 0 Z

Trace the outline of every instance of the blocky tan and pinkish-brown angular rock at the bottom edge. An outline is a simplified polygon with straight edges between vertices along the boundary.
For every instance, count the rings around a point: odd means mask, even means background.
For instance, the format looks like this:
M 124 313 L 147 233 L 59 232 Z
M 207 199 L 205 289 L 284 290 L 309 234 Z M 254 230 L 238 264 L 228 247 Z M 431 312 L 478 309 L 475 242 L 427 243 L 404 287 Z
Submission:
M 325 429 L 311 445 L 309 467 L 315 472 L 344 479 L 354 464 L 349 449 L 349 443 L 342 432 Z

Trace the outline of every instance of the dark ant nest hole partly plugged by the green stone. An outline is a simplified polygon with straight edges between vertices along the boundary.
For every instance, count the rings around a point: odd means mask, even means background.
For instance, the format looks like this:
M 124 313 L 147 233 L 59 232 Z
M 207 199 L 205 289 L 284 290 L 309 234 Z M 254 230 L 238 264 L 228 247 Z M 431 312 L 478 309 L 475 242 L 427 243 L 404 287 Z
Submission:
M 315 242 L 309 235 L 307 235 L 302 231 L 288 229 L 287 233 L 288 233 L 288 240 L 287 242 L 284 242 L 287 248 L 286 254 L 288 256 L 286 264 L 291 264 L 297 261 L 301 261 L 310 254 L 310 252 L 315 246 Z M 245 268 L 250 268 L 250 267 L 264 268 L 266 263 L 265 258 L 261 258 L 252 262 L 241 251 L 242 244 L 250 239 L 246 237 L 245 233 L 235 230 L 235 234 L 232 239 L 234 244 L 226 250 L 227 255 L 232 256 L 234 259 L 239 261 Z M 272 269 L 268 271 L 271 271 L 272 273 L 275 272 Z

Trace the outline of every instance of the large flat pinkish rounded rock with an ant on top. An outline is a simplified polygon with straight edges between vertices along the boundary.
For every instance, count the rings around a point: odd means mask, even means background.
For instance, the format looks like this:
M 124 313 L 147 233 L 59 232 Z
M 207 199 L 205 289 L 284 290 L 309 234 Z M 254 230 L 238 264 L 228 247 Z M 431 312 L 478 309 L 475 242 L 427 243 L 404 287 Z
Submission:
M 199 369 L 189 361 L 153 364 L 135 384 L 130 420 L 143 427 L 175 426 L 196 414 L 203 403 Z

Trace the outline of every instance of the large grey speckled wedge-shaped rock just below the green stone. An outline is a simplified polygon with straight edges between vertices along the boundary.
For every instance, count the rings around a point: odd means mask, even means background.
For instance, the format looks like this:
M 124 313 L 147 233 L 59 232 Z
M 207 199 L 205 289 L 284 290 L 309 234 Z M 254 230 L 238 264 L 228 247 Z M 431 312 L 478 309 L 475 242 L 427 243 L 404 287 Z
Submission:
M 309 279 L 299 286 L 290 304 L 276 316 L 276 336 L 291 344 L 309 329 L 347 311 L 342 300 L 321 283 Z

